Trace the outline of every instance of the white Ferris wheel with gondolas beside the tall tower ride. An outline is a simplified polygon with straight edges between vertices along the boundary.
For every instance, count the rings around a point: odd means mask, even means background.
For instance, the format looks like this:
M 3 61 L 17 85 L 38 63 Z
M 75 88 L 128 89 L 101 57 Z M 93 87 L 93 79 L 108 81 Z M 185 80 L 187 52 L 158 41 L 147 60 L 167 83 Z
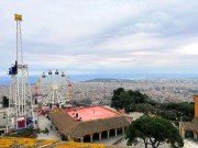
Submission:
M 48 70 L 38 77 L 34 90 L 37 103 L 62 106 L 70 101 L 73 86 L 64 71 Z

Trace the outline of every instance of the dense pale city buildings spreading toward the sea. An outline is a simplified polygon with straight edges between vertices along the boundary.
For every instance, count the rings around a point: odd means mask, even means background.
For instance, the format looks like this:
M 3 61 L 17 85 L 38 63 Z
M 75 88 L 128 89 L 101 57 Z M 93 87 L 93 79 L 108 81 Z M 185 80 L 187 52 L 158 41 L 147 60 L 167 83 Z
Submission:
M 109 104 L 113 90 L 139 90 L 157 102 L 193 102 L 198 93 L 198 79 L 156 79 L 156 80 L 117 80 L 73 82 L 73 101 L 89 100 L 92 103 Z M 8 95 L 9 88 L 0 87 L 0 96 Z M 32 86 L 35 94 L 34 86 Z M 40 90 L 38 90 L 40 91 Z

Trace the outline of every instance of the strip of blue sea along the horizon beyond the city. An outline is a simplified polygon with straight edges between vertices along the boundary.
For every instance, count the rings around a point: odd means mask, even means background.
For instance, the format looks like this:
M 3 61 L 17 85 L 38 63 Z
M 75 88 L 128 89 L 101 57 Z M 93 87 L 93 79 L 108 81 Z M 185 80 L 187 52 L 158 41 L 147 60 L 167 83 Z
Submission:
M 29 82 L 35 83 L 41 76 L 29 76 Z M 86 81 L 92 79 L 129 79 L 129 80 L 152 80 L 152 79 L 198 79 L 198 73 L 96 73 L 96 75 L 70 75 L 70 81 Z M 10 76 L 0 76 L 0 86 L 9 84 Z

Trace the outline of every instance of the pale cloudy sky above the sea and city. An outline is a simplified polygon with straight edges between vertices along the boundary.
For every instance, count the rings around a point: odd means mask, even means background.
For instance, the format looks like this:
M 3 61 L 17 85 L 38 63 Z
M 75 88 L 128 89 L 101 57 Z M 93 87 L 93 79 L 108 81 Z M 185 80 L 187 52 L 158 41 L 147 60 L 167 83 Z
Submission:
M 23 15 L 30 75 L 198 76 L 197 0 L 1 0 L 0 76 L 15 58 Z

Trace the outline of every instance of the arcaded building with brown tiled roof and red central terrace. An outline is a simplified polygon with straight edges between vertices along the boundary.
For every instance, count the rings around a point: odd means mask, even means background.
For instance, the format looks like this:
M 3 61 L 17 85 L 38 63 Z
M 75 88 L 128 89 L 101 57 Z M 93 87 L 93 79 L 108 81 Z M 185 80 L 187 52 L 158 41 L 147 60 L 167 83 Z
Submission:
M 62 136 L 89 143 L 123 134 L 132 122 L 132 118 L 106 106 L 54 110 L 50 117 Z

